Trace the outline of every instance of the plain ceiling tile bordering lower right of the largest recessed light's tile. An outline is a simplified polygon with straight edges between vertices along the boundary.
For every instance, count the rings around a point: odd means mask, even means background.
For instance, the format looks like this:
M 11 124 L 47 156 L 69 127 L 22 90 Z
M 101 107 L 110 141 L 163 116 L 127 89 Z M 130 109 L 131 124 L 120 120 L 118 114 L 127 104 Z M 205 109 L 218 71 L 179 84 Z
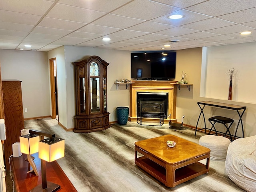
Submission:
M 210 18 L 190 24 L 183 25 L 182 27 L 190 28 L 190 29 L 197 29 L 200 31 L 210 30 L 214 28 L 220 28 L 224 26 L 231 26 L 235 25 L 234 22 L 225 21 L 219 18 Z

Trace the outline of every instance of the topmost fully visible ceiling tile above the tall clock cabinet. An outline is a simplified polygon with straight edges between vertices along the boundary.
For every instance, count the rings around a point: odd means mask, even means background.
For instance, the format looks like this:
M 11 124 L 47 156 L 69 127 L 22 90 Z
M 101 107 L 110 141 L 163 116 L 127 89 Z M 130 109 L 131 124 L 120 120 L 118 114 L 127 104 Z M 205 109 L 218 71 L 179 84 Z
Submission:
M 81 23 L 90 23 L 96 18 L 103 16 L 104 14 L 104 12 L 57 3 L 46 15 L 46 17 Z

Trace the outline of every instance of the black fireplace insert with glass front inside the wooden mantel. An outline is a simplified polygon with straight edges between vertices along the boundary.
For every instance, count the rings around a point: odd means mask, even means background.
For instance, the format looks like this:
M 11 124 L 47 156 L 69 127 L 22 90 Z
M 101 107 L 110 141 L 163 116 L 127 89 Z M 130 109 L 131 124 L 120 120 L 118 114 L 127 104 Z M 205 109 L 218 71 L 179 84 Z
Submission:
M 167 119 L 168 93 L 137 92 L 137 117 Z

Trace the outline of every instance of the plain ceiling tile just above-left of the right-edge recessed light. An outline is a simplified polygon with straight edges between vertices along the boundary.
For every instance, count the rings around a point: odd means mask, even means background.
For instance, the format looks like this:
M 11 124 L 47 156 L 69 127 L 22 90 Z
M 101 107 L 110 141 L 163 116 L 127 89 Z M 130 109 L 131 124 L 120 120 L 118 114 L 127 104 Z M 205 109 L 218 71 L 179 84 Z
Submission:
M 226 34 L 230 34 L 230 33 L 235 33 L 235 32 L 239 33 L 239 32 L 249 31 L 249 30 L 254 30 L 254 28 L 237 24 L 237 25 L 207 30 L 207 32 L 226 35 Z

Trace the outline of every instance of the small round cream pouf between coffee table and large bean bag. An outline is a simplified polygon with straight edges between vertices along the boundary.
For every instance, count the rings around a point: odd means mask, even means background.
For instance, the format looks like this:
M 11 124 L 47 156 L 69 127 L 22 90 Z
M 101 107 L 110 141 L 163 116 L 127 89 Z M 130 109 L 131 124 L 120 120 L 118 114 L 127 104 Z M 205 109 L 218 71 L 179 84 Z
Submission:
M 204 135 L 200 137 L 199 144 L 211 150 L 210 159 L 224 161 L 226 160 L 230 140 L 223 136 Z

